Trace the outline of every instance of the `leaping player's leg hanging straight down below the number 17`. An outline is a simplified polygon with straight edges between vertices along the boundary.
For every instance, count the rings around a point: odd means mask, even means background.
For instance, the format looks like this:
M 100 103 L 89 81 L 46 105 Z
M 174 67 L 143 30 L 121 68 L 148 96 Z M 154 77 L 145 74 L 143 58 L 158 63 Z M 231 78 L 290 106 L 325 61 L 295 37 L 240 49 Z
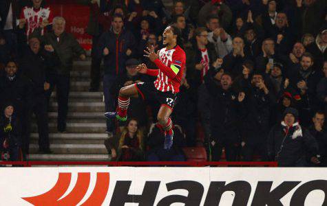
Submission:
M 169 116 L 171 115 L 172 109 L 167 105 L 162 105 L 158 112 L 158 123 L 165 130 L 165 150 L 169 150 L 173 146 L 173 122 Z

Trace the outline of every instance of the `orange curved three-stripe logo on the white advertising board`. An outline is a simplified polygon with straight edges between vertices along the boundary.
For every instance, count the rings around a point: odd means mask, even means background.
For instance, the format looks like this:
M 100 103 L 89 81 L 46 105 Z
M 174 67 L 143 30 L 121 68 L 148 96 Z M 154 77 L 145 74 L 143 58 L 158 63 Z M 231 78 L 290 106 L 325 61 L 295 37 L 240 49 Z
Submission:
M 60 172 L 56 184 L 48 192 L 38 196 L 25 197 L 23 200 L 32 205 L 77 205 L 85 196 L 90 183 L 89 172 L 78 172 L 76 185 L 72 192 L 61 198 L 70 186 L 72 173 Z M 109 190 L 109 172 L 96 173 L 96 185 L 92 194 L 82 205 L 101 205 Z M 60 200 L 59 200 L 60 199 Z

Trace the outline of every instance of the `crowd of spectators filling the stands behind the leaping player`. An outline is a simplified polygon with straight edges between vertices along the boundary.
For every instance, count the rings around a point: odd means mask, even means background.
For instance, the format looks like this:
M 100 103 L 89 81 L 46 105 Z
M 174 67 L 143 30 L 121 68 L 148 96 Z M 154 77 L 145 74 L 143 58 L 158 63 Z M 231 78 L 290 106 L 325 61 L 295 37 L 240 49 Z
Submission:
M 35 113 L 40 150 L 51 152 L 48 108 L 41 105 L 56 86 L 64 132 L 73 56 L 84 60 L 85 52 L 44 1 L 19 2 L 0 3 L 1 132 L 11 121 L 12 134 L 22 138 L 10 148 L 21 144 L 28 153 Z M 165 27 L 176 25 L 182 34 L 187 64 L 172 114 L 173 148 L 163 150 L 153 115 L 158 104 L 131 98 L 126 124 L 107 120 L 105 146 L 113 159 L 182 161 L 182 147 L 203 145 L 212 161 L 224 152 L 227 161 L 327 165 L 327 0 L 177 0 L 171 9 L 160 0 L 76 2 L 90 8 L 89 91 L 101 88 L 103 62 L 106 111 L 115 110 L 121 87 L 154 80 L 136 66 L 156 69 L 143 51 L 162 48 Z

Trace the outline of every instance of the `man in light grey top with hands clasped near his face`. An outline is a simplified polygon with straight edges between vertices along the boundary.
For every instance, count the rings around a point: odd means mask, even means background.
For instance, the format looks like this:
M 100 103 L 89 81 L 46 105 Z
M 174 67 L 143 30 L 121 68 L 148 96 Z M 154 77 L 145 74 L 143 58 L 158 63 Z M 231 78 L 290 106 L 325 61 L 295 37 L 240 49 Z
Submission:
M 218 16 L 208 16 L 206 26 L 209 30 L 209 42 L 215 45 L 218 56 L 224 58 L 233 49 L 231 36 L 221 27 Z

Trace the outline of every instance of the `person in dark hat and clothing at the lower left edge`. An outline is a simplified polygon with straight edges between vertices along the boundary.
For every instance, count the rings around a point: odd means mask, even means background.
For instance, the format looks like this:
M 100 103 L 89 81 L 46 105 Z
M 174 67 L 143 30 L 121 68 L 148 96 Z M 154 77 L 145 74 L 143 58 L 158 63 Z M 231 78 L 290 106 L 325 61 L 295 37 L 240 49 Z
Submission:
M 18 161 L 20 145 L 21 124 L 14 114 L 13 104 L 5 102 L 1 105 L 0 115 L 0 159 L 2 161 Z

